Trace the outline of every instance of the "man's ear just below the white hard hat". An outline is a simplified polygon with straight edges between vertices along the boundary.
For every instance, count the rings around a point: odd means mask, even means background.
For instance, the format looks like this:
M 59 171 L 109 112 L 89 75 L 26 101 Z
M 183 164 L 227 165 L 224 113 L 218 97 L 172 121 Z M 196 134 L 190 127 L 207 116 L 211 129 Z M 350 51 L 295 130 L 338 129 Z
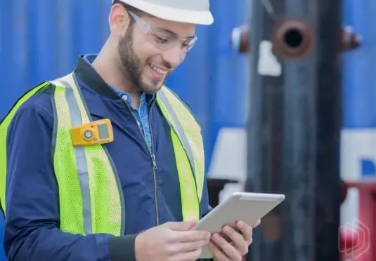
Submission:
M 124 32 L 127 31 L 129 22 L 129 15 L 124 6 L 122 6 L 121 4 L 113 5 L 108 17 L 111 34 L 114 36 L 121 36 L 122 34 L 124 34 Z

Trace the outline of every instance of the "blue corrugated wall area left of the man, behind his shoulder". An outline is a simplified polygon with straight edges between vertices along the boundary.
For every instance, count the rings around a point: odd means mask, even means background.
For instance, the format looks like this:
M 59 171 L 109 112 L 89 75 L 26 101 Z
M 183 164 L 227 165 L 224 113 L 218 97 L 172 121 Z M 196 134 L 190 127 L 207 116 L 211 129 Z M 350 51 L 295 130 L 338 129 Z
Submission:
M 108 36 L 111 1 L 0 0 L 0 118 L 32 86 L 67 74 Z

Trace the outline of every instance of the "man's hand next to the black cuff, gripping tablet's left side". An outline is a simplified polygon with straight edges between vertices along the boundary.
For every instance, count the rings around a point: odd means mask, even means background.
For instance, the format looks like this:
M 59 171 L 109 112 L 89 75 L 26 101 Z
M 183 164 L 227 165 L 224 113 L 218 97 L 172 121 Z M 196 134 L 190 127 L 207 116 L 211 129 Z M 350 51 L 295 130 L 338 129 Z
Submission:
M 210 233 L 193 229 L 197 221 L 167 222 L 136 236 L 137 261 L 181 260 L 193 261 L 200 257 Z

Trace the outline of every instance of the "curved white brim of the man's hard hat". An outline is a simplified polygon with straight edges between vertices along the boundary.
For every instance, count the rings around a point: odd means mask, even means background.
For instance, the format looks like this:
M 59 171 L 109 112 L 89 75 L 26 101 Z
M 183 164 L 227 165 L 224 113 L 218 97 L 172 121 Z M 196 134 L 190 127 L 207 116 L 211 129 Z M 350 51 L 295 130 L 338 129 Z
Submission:
M 157 4 L 152 4 L 148 1 L 142 0 L 121 0 L 125 4 L 134 6 L 135 8 L 149 13 L 157 18 L 164 20 L 170 20 L 174 22 L 186 22 L 196 25 L 211 25 L 214 21 L 212 13 L 207 11 L 194 11 L 194 10 L 183 10 L 179 8 L 171 8 L 168 6 L 160 6 Z M 189 0 L 188 0 L 189 1 Z

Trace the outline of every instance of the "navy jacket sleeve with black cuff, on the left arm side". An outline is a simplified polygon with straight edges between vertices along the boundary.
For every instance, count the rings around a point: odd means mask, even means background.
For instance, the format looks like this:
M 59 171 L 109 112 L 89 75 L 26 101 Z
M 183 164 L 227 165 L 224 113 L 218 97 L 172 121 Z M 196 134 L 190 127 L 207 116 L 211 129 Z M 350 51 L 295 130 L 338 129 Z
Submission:
M 51 158 L 52 108 L 49 112 L 41 105 L 24 105 L 12 119 L 6 144 L 8 260 L 135 260 L 136 235 L 83 236 L 59 229 L 58 185 Z

